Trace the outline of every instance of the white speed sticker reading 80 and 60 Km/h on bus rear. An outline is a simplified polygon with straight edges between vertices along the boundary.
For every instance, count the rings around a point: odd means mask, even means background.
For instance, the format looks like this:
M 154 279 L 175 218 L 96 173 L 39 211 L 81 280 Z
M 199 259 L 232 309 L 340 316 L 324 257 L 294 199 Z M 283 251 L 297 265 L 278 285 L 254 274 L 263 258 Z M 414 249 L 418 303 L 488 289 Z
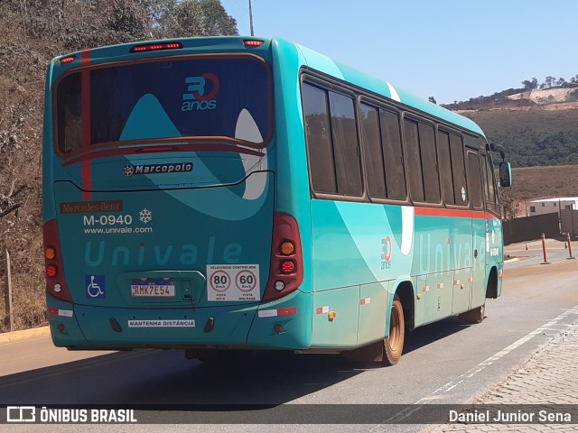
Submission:
M 258 264 L 208 264 L 207 299 L 261 300 Z

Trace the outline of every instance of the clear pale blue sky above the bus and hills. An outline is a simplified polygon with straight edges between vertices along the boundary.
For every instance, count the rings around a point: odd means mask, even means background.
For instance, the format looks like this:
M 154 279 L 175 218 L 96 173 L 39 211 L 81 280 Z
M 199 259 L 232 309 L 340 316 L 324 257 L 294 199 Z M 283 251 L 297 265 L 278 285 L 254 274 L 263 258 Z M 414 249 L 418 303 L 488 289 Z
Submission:
M 248 0 L 221 0 L 250 35 Z M 578 74 L 578 0 L 252 0 L 281 37 L 438 104 Z

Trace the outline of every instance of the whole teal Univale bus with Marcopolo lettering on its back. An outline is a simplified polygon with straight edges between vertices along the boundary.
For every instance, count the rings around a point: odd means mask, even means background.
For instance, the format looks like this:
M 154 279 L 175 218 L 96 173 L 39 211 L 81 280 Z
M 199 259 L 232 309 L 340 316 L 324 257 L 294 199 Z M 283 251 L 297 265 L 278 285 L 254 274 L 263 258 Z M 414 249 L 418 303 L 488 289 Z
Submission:
M 346 353 L 478 322 L 503 270 L 471 120 L 283 39 L 145 41 L 51 61 L 43 236 L 70 349 Z M 508 162 L 500 162 L 502 187 Z

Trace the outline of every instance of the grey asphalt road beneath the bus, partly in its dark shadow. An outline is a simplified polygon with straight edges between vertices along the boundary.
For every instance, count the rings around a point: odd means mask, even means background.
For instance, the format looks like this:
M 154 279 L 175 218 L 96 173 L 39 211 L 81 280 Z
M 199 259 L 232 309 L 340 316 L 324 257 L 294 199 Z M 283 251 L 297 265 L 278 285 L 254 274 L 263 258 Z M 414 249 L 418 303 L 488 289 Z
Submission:
M 526 251 L 526 250 L 524 250 Z M 577 316 L 578 260 L 556 256 L 549 265 L 533 259 L 507 263 L 502 296 L 489 299 L 487 318 L 467 326 L 457 318 L 421 327 L 406 336 L 399 364 L 356 368 L 339 356 L 259 353 L 227 366 L 185 360 L 173 350 L 137 350 L 106 355 L 70 353 L 49 337 L 0 345 L 0 404 L 273 404 L 303 403 L 287 431 L 417 431 L 424 426 L 370 424 L 306 425 L 315 404 L 462 403 L 514 371 L 549 337 Z M 578 311 L 578 309 L 576 309 Z M 564 315 L 564 312 L 566 313 Z M 85 359 L 79 359 L 89 356 Z M 361 408 L 361 406 L 359 406 Z M 303 409 L 303 408 L 302 408 Z M 367 409 L 367 408 L 366 408 Z M 154 412 L 151 412 L 154 414 Z M 251 431 L 252 418 L 228 425 L 177 425 L 179 411 L 159 413 L 169 425 L 87 425 L 83 431 Z M 261 411 L 266 414 L 266 411 Z M 207 416 L 207 413 L 203 414 Z M 173 418 L 171 418 L 171 416 Z M 271 423 L 278 419 L 271 417 Z M 372 417 L 375 418 L 375 417 Z M 379 417 L 378 417 L 379 418 Z M 295 420 L 294 420 L 295 422 Z M 328 419 L 331 424 L 331 419 Z M 0 431 L 53 431 L 55 426 L 0 425 Z M 78 431 L 59 426 L 59 431 Z

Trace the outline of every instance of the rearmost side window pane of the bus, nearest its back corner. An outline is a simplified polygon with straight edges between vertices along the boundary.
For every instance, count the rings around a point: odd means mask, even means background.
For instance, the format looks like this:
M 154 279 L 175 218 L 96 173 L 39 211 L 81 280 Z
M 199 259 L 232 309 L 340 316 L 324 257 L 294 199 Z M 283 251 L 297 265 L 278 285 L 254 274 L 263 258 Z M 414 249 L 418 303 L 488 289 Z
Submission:
M 337 192 L 337 180 L 325 90 L 303 83 L 303 115 L 312 189 L 334 194 Z

